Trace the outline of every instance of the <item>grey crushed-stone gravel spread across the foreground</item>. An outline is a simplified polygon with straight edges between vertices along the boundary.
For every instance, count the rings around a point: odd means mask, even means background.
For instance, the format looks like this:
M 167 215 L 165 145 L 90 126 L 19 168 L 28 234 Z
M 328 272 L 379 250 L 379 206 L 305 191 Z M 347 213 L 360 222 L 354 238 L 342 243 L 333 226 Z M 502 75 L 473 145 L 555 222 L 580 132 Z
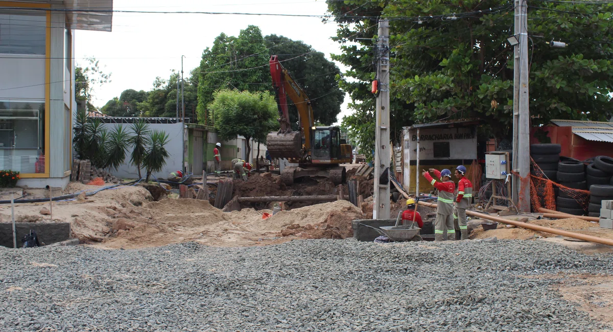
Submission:
M 592 331 L 527 275 L 613 274 L 539 241 L 301 240 L 219 248 L 0 248 L 2 331 Z M 567 282 L 572 282 L 567 281 Z

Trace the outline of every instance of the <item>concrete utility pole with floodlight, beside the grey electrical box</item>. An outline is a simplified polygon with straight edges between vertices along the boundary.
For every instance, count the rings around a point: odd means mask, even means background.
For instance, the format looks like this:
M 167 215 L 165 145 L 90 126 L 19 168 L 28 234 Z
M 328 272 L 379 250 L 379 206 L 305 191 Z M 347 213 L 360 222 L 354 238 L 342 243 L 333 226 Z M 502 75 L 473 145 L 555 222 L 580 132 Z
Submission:
M 528 4 L 515 2 L 515 45 L 513 61 L 513 176 L 512 200 L 520 212 L 530 212 L 530 110 L 528 109 Z M 524 179 L 524 181 L 521 181 Z

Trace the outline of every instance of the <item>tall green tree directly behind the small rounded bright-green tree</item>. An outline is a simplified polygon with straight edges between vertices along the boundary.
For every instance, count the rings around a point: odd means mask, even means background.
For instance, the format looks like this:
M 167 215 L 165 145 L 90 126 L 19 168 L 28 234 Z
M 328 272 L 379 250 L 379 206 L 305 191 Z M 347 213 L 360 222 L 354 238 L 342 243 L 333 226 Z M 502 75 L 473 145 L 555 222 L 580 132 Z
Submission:
M 260 29 L 250 25 L 238 37 L 220 34 L 213 47 L 203 51 L 198 74 L 197 113 L 202 124 L 209 118 L 207 105 L 213 101 L 215 91 L 270 89 L 268 50 Z

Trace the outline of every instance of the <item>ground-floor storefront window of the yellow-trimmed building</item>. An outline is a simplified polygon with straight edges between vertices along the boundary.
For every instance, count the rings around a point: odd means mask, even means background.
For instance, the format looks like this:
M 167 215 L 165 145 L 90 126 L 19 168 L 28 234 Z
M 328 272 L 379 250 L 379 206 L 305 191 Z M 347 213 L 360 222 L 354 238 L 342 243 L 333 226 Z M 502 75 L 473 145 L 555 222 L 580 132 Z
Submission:
M 0 167 L 45 173 L 45 102 L 0 100 Z

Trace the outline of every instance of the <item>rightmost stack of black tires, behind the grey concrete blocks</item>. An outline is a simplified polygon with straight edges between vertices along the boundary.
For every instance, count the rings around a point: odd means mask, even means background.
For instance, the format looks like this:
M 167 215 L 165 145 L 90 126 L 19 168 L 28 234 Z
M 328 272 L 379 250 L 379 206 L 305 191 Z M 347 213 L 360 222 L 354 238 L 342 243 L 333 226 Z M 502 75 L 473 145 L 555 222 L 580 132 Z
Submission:
M 600 217 L 601 202 L 613 200 L 613 158 L 598 156 L 587 166 L 587 184 L 590 188 L 588 216 Z

